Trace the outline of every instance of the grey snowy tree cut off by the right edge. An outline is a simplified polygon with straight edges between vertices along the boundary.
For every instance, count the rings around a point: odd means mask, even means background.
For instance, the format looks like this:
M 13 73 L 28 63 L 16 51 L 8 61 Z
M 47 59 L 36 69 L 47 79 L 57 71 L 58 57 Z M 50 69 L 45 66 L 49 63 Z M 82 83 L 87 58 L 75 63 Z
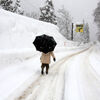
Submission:
M 97 8 L 94 11 L 94 21 L 97 23 L 98 26 L 97 38 L 100 41 L 100 2 L 98 3 Z

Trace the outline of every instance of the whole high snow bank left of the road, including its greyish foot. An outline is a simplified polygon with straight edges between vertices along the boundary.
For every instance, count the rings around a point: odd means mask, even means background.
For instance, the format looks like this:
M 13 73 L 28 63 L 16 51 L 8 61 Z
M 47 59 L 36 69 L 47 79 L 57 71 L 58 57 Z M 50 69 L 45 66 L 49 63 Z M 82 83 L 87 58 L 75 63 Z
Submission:
M 19 62 L 36 54 L 32 43 L 41 34 L 53 36 L 58 47 L 66 41 L 53 24 L 0 9 L 0 64 Z

